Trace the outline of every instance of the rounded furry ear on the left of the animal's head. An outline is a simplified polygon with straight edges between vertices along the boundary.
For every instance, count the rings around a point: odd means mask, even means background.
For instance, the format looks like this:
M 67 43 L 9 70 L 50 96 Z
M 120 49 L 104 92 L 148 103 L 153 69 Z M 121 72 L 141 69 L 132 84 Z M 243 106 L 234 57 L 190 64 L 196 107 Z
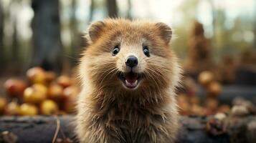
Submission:
M 95 41 L 100 36 L 100 33 L 103 31 L 105 24 L 103 21 L 95 21 L 93 24 L 90 24 L 88 29 L 88 34 L 91 41 Z

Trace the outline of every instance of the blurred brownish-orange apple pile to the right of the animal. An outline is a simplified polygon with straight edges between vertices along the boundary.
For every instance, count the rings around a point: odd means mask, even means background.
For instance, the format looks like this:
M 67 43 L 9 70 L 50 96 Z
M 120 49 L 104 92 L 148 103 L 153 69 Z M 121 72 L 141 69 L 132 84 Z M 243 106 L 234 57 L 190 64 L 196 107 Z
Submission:
M 207 96 L 201 101 L 195 94 L 179 94 L 178 104 L 181 114 L 195 114 L 207 116 L 217 112 L 229 113 L 231 107 L 227 104 L 219 104 L 217 97 L 222 92 L 222 86 L 214 79 L 212 71 L 202 71 L 198 77 L 199 84 L 206 90 Z M 191 87 L 196 89 L 196 87 Z

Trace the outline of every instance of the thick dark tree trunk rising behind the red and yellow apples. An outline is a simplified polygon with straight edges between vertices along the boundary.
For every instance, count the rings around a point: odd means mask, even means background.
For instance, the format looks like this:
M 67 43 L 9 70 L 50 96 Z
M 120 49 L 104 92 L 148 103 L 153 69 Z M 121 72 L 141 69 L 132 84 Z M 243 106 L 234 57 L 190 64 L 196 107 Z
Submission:
M 32 20 L 34 54 L 32 66 L 47 70 L 62 69 L 62 42 L 58 0 L 33 0 Z

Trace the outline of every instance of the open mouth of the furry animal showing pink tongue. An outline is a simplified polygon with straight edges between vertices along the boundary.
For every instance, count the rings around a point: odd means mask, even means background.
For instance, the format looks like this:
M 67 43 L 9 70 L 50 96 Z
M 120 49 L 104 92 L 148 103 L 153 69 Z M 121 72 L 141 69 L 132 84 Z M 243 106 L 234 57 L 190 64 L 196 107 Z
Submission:
M 128 89 L 135 89 L 138 87 L 139 82 L 141 81 L 142 74 L 128 72 L 128 73 L 119 73 L 119 78 Z

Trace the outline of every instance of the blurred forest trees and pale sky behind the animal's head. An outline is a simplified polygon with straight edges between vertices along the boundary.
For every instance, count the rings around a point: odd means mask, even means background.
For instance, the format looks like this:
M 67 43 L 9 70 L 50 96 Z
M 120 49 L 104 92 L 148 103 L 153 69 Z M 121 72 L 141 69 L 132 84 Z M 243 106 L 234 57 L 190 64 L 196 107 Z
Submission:
M 75 66 L 87 26 L 108 16 L 171 25 L 172 45 L 184 62 L 200 29 L 215 64 L 249 58 L 256 49 L 254 0 L 1 0 L 0 70 Z

